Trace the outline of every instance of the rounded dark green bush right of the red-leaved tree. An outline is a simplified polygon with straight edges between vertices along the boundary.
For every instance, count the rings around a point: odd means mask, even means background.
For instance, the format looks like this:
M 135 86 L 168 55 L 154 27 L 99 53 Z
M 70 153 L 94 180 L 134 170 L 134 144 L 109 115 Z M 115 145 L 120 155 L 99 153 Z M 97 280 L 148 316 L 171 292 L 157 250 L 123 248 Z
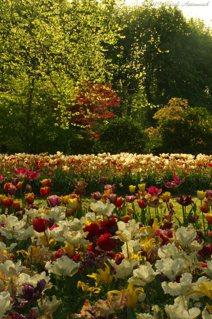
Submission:
M 95 152 L 120 152 L 142 154 L 147 142 L 147 133 L 135 119 L 115 118 L 101 127 L 100 136 L 94 145 Z

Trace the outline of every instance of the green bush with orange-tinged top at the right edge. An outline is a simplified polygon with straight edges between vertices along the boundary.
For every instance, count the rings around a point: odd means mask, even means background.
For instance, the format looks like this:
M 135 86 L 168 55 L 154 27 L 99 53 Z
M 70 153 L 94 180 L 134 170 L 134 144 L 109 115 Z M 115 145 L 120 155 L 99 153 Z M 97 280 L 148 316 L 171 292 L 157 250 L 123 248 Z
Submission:
M 190 108 L 186 101 L 172 99 L 154 118 L 158 127 L 149 129 L 151 152 L 211 154 L 212 115 L 205 108 Z

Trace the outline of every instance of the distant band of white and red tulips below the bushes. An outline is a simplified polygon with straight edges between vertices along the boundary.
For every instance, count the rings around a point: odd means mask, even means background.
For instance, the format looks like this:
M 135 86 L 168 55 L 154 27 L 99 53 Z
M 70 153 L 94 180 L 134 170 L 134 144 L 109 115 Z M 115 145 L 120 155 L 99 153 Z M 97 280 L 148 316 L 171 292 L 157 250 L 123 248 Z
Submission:
M 138 185 L 142 180 L 151 185 L 165 189 L 164 184 L 176 174 L 184 178 L 184 193 L 194 193 L 198 189 L 211 188 L 212 155 L 199 154 L 129 154 L 116 155 L 70 155 L 61 152 L 54 155 L 18 153 L 15 155 L 0 154 L 0 173 L 11 179 L 11 172 L 18 167 L 29 171 L 39 171 L 42 178 L 51 178 L 52 191 L 70 193 L 74 190 L 74 179 L 83 178 L 88 183 L 88 193 L 101 189 L 99 179 L 103 176 L 107 182 L 116 183 L 116 191 L 126 192 L 128 185 Z M 34 192 L 39 191 L 39 176 L 31 177 Z

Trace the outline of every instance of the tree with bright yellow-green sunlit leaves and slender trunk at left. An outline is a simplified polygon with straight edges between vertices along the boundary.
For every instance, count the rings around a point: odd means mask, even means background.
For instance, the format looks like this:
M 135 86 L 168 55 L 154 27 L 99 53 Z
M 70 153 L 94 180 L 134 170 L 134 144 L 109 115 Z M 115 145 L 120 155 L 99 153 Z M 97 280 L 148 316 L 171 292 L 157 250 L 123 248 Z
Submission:
M 93 0 L 3 0 L 0 12 L 1 99 L 4 94 L 8 98 L 8 92 L 14 99 L 17 83 L 27 86 L 27 152 L 35 87 L 51 79 L 56 90 L 52 98 L 60 110 L 56 122 L 68 128 L 64 112 L 73 98 L 72 87 L 84 80 L 105 79 L 103 43 L 115 43 L 116 32 L 113 24 L 102 23 Z

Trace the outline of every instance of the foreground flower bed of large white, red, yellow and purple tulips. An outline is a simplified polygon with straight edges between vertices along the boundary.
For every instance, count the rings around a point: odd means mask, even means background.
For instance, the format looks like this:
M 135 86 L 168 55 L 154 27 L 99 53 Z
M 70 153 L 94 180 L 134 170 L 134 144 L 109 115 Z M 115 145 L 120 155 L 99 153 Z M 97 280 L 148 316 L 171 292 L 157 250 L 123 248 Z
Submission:
M 197 192 L 197 207 L 180 194 L 185 181 L 176 175 L 165 183 L 170 192 L 142 183 L 129 185 L 125 198 L 102 178 L 103 192 L 85 207 L 85 181 L 58 197 L 43 179 L 47 201 L 39 207 L 30 185 L 22 187 L 40 177 L 18 168 L 4 187 L 7 197 L 0 195 L 1 318 L 212 317 L 211 190 Z M 0 182 L 8 184 L 1 174 Z M 174 189 L 183 211 L 178 224 Z

